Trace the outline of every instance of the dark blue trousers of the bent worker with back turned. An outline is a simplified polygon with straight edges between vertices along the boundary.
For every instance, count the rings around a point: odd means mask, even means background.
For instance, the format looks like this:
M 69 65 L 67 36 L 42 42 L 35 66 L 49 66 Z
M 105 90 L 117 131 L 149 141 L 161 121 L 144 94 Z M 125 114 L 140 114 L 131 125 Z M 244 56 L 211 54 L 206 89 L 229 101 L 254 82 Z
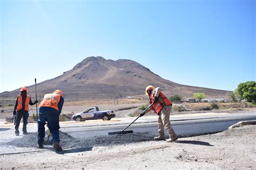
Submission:
M 38 127 L 38 144 L 43 144 L 45 137 L 45 121 L 47 121 L 48 128 L 52 135 L 53 144 L 59 143 L 59 114 L 57 113 L 39 113 L 39 119 L 37 120 Z

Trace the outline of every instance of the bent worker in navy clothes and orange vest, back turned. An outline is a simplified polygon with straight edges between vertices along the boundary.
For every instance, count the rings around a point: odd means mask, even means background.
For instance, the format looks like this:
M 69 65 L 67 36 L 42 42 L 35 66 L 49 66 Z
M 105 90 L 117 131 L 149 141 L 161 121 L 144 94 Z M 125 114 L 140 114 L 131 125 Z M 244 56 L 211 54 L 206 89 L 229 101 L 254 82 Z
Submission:
M 59 145 L 59 114 L 62 112 L 64 104 L 63 93 L 61 90 L 56 90 L 53 93 L 45 94 L 44 99 L 39 105 L 39 119 L 37 121 L 37 147 L 44 148 L 43 142 L 45 137 L 45 121 L 52 135 L 53 148 L 56 152 L 62 151 Z

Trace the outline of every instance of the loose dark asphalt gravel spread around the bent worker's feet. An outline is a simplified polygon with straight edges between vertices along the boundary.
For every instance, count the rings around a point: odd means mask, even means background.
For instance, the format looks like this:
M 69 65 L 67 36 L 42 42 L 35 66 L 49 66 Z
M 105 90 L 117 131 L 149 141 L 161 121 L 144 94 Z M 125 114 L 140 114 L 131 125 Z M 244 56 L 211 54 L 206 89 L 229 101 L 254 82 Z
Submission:
M 47 133 L 45 141 L 47 140 Z M 142 142 L 153 140 L 153 135 L 149 133 L 128 133 L 116 135 L 102 135 L 88 139 L 73 138 L 68 133 L 59 132 L 60 145 L 63 149 L 70 148 L 90 148 L 95 146 L 113 146 L 121 144 L 130 144 L 133 142 Z M 51 140 L 51 137 L 50 137 Z M 16 147 L 37 147 L 37 133 L 29 133 L 22 138 L 14 139 L 10 142 L 5 142 L 3 145 Z M 48 145 L 49 146 L 49 145 Z

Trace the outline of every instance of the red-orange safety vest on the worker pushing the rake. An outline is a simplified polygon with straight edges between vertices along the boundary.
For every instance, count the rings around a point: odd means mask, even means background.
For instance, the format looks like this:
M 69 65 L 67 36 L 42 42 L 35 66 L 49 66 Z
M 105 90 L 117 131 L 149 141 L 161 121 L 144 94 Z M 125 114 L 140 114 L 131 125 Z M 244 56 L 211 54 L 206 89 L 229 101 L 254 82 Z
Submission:
M 157 114 L 159 114 L 159 112 L 162 110 L 162 108 L 167 105 L 172 105 L 171 101 L 169 99 L 167 99 L 167 97 L 164 95 L 163 92 L 160 92 L 159 93 L 159 96 L 161 96 L 161 98 L 163 98 L 164 100 L 164 104 L 160 104 L 159 101 L 157 101 L 156 103 L 154 103 L 152 106 L 151 106 L 151 109 L 156 112 Z M 150 104 L 152 104 L 154 102 L 154 96 L 153 96 L 153 93 L 150 94 Z

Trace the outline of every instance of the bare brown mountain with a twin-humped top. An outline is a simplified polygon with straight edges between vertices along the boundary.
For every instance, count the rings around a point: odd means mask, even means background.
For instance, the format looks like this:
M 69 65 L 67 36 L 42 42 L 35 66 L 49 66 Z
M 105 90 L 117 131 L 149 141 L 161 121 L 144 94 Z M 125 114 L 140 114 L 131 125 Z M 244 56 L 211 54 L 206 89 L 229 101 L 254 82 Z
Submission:
M 207 97 L 224 97 L 226 91 L 194 87 L 174 83 L 153 73 L 133 60 L 106 60 L 103 57 L 87 57 L 73 69 L 61 76 L 37 84 L 37 93 L 51 93 L 56 89 L 64 92 L 69 99 L 112 98 L 144 94 L 145 87 L 153 85 L 170 96 L 179 94 L 192 97 L 195 92 L 204 92 Z M 35 94 L 35 85 L 28 87 Z M 19 89 L 8 92 L 17 96 Z

